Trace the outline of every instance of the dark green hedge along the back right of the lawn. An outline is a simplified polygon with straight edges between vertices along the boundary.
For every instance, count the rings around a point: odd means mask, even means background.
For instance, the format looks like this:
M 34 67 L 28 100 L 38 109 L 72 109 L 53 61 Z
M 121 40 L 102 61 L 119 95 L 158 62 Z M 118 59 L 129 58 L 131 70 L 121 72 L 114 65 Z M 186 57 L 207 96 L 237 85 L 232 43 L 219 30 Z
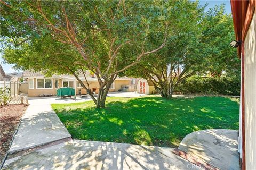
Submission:
M 182 94 L 240 95 L 240 80 L 235 77 L 193 76 L 181 82 L 174 92 Z

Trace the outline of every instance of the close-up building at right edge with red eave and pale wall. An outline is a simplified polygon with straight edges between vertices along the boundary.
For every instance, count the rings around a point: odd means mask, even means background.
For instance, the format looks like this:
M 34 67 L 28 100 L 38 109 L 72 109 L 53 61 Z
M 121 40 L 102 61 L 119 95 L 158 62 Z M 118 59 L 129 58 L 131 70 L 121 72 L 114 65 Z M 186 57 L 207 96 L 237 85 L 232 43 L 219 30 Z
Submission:
M 241 41 L 239 153 L 242 169 L 256 169 L 256 12 L 255 0 L 231 0 L 236 41 Z

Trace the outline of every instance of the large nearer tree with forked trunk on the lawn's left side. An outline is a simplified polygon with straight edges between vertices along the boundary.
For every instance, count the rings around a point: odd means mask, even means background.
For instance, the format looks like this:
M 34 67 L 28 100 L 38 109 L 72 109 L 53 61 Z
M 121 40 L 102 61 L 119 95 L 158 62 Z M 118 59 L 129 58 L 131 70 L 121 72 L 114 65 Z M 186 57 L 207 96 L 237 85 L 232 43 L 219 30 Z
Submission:
M 9 40 L 5 60 L 23 69 L 73 74 L 97 108 L 105 107 L 118 74 L 166 40 L 162 8 L 153 1 L 0 2 L 1 37 Z M 155 31 L 162 40 L 156 37 L 159 44 L 149 45 Z M 97 98 L 77 76 L 86 70 L 98 79 Z

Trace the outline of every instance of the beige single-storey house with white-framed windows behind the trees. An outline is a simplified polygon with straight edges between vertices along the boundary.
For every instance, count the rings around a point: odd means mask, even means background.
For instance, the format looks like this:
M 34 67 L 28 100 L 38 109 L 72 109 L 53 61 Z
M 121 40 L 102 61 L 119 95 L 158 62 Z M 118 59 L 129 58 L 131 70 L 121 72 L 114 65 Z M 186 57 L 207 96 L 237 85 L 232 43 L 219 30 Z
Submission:
M 89 85 L 91 91 L 98 93 L 99 83 L 97 78 L 89 71 L 86 71 L 85 75 L 88 84 L 82 74 L 78 75 L 78 77 L 83 81 L 85 86 Z M 81 94 L 86 94 L 86 90 L 81 87 L 81 84 L 79 84 L 73 75 L 52 75 L 51 77 L 45 77 L 42 73 L 25 70 L 22 78 L 28 82 L 27 94 L 29 97 L 35 97 L 41 94 L 56 95 L 56 90 L 61 87 L 72 87 L 76 90 L 76 94 L 79 94 L 79 91 Z M 123 91 L 122 87 L 131 84 L 131 82 L 132 78 L 117 77 L 111 85 L 109 92 Z

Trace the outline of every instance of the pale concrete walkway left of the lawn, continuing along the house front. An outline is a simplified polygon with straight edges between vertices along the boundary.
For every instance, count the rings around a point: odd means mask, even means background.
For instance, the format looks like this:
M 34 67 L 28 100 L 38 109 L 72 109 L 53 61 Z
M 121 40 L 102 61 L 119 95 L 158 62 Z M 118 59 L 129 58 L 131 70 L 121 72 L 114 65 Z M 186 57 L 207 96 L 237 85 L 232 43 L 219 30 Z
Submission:
M 108 96 L 138 97 L 135 92 L 113 92 Z M 51 142 L 68 140 L 71 135 L 51 108 L 52 103 L 78 103 L 91 100 L 90 97 L 62 98 L 30 97 L 27 111 L 21 118 L 21 124 L 14 137 L 9 155 L 40 147 Z M 22 153 L 21 153 L 22 154 Z

